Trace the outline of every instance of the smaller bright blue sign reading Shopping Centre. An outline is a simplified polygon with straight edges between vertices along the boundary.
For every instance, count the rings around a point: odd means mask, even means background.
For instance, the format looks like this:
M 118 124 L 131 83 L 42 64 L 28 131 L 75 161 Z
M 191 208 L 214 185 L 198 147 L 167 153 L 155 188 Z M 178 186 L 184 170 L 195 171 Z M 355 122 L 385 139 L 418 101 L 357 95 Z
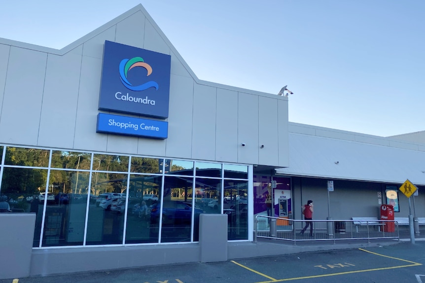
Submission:
M 96 132 L 166 139 L 168 122 L 99 113 Z

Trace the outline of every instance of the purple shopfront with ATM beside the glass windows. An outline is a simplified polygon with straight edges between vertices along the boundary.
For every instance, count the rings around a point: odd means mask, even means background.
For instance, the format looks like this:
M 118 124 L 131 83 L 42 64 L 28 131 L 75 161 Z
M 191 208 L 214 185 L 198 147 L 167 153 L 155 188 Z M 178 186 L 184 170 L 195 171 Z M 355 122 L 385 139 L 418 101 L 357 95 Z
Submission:
M 257 215 L 282 218 L 278 226 L 289 225 L 292 218 L 290 178 L 271 176 L 253 176 L 254 184 L 254 218 Z M 273 186 L 273 182 L 276 186 Z M 275 187 L 275 188 L 274 188 Z M 272 201 L 273 200 L 273 201 Z

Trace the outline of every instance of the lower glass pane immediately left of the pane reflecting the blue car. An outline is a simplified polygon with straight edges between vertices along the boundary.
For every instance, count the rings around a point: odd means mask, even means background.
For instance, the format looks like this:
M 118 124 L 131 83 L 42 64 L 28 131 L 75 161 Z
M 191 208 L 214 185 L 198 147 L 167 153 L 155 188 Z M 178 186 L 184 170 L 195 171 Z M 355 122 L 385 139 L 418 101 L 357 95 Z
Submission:
M 131 175 L 128 192 L 127 228 L 125 243 L 158 243 L 162 176 Z M 125 201 L 117 213 L 124 213 Z M 153 216 L 153 221 L 151 221 Z

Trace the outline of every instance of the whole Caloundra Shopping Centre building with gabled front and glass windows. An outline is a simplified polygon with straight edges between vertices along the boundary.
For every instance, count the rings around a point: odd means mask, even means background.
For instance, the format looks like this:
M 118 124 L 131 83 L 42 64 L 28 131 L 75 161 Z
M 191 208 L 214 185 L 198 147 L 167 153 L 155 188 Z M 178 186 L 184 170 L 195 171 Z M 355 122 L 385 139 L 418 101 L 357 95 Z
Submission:
M 201 81 L 142 5 L 61 50 L 0 38 L 0 90 L 16 276 L 266 255 L 257 215 L 375 216 L 425 186 L 424 140 L 289 123 L 285 96 Z

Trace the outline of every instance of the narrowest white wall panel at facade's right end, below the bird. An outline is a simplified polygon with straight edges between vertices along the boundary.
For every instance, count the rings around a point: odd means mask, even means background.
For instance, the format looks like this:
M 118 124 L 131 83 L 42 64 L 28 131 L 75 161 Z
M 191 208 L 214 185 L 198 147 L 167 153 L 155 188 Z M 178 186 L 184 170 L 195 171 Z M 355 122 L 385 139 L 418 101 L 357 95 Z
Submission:
M 278 100 L 279 166 L 289 166 L 288 100 Z

